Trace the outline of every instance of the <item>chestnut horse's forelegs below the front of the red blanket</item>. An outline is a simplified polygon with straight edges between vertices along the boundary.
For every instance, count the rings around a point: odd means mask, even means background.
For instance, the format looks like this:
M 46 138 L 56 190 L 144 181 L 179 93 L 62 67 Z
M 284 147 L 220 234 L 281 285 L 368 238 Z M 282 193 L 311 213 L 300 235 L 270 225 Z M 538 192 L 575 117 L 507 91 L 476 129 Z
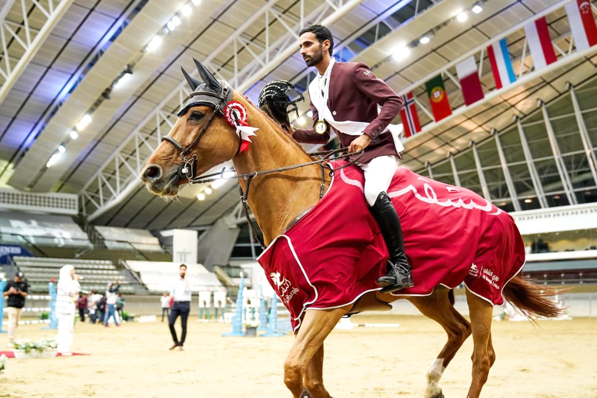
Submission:
M 288 353 L 284 363 L 284 383 L 293 393 L 294 398 L 301 397 L 303 388 L 306 387 L 313 398 L 329 398 L 322 384 L 322 368 L 316 364 L 317 353 L 323 359 L 323 343 L 328 334 L 334 329 L 338 320 L 346 314 L 349 307 L 334 308 L 333 310 L 307 310 L 303 322 L 298 329 L 293 347 Z M 315 357 L 315 362 L 312 360 Z M 322 361 L 319 361 L 319 366 Z M 309 372 L 307 372 L 309 371 Z M 309 375 L 320 374 L 319 380 L 310 380 Z

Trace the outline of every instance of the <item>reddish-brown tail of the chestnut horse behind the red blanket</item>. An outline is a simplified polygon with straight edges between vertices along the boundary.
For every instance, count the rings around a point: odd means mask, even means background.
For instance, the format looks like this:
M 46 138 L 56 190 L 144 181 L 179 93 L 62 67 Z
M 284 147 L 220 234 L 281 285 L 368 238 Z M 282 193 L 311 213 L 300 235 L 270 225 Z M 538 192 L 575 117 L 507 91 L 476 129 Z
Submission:
M 549 297 L 565 291 L 567 289 L 536 285 L 522 279 L 522 275 L 518 274 L 504 286 L 503 295 L 524 316 L 532 320 L 531 316 L 533 315 L 542 317 L 561 316 L 565 308 L 559 308 L 558 304 L 550 300 Z

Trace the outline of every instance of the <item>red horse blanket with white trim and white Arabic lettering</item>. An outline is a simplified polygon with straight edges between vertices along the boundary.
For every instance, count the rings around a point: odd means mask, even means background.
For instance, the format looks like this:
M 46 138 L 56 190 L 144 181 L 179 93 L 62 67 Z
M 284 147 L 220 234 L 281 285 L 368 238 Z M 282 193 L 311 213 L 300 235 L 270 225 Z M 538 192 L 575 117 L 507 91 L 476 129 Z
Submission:
M 334 166 L 343 162 L 333 162 Z M 363 195 L 356 166 L 336 172 L 313 209 L 257 258 L 290 311 L 342 307 L 379 289 L 388 251 Z M 466 188 L 399 168 L 388 190 L 398 211 L 414 287 L 401 296 L 429 295 L 438 285 L 467 288 L 491 304 L 524 265 L 522 237 L 512 217 Z

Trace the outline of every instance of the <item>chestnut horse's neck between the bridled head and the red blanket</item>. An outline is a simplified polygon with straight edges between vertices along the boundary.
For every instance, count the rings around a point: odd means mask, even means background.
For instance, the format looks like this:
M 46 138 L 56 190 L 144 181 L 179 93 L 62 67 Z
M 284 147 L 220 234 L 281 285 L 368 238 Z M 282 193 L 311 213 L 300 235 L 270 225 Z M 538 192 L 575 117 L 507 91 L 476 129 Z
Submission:
M 248 153 L 233 159 L 237 172 L 277 169 L 311 160 L 298 144 L 266 120 L 266 116 L 261 113 L 259 116 L 248 120 L 251 127 L 259 130 Z M 317 203 L 320 184 L 318 165 L 259 175 L 251 181 L 248 203 L 266 244 L 280 235 L 298 214 Z M 241 186 L 245 191 L 245 181 Z

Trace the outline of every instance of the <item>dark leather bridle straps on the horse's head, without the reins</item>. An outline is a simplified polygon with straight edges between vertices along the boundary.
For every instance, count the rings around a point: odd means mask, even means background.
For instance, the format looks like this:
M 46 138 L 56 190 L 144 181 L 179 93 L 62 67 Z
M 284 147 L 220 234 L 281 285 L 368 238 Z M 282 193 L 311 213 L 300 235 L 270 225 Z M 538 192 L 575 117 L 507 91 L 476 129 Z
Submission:
M 189 146 L 184 148 L 178 141 L 176 141 L 174 138 L 168 135 L 164 135 L 164 137 L 161 138 L 161 141 L 166 141 L 172 144 L 172 146 L 174 146 L 177 150 L 180 151 L 180 156 L 183 158 L 183 163 L 180 164 L 179 168 L 176 171 L 176 174 L 181 179 L 187 178 L 187 180 L 189 180 L 189 185 L 193 185 L 193 180 L 195 180 L 195 178 L 197 177 L 197 155 L 193 155 L 190 159 L 187 159 L 187 155 L 189 155 L 193 148 L 195 148 L 195 146 L 199 143 L 199 140 L 201 140 L 201 137 L 203 137 L 203 135 L 207 131 L 207 128 L 210 127 L 210 123 L 214 118 L 214 115 L 224 116 L 224 107 L 226 107 L 226 100 L 230 90 L 232 90 L 230 86 L 222 84 L 221 91 L 219 94 L 213 91 L 193 91 L 189 95 L 189 98 L 195 97 L 196 95 L 207 95 L 208 97 L 216 98 L 217 101 L 215 103 L 211 103 L 213 104 L 214 112 L 211 113 L 210 117 L 207 119 L 207 122 L 205 122 L 203 129 L 201 130 L 201 132 L 199 132 L 197 137 L 195 137 L 195 140 L 193 140 L 193 142 Z M 183 109 L 183 113 L 187 112 L 187 110 L 188 108 Z M 236 149 L 235 156 L 238 155 L 238 153 L 240 152 L 241 144 L 242 139 L 239 135 L 238 149 Z

